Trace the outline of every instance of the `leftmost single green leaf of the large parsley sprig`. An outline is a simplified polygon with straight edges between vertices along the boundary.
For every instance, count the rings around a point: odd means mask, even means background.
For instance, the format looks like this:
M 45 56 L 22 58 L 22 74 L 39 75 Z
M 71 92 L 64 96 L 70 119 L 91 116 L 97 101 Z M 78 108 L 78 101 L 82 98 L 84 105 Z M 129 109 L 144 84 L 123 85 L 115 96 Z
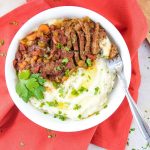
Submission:
M 24 83 L 18 82 L 16 85 L 17 94 L 27 103 L 29 101 L 29 92 Z

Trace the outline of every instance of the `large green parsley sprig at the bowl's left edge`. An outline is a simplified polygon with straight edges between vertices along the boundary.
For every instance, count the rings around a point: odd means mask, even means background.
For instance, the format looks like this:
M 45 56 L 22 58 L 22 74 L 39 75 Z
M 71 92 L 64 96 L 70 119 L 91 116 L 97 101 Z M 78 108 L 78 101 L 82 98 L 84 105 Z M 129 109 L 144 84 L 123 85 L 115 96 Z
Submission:
M 29 70 L 23 70 L 18 73 L 18 77 L 16 92 L 25 102 L 28 102 L 31 97 L 35 97 L 37 100 L 44 98 L 45 80 L 39 74 L 30 75 Z

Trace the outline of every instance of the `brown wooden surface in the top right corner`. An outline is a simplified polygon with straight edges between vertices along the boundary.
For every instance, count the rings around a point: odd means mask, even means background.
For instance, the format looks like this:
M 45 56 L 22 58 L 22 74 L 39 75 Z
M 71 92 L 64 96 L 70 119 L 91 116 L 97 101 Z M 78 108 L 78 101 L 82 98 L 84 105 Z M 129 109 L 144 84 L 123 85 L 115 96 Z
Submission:
M 147 33 L 147 39 L 150 43 L 150 0 L 138 0 L 140 7 L 142 8 L 144 15 L 147 18 L 149 31 Z

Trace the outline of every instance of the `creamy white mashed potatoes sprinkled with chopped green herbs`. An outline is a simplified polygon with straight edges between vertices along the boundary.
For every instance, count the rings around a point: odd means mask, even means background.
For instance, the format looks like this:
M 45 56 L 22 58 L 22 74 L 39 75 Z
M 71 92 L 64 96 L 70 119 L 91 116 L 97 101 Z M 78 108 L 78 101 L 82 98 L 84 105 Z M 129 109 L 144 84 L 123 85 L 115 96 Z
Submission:
M 61 85 L 46 82 L 43 100 L 31 99 L 31 104 L 56 118 L 79 120 L 98 114 L 107 107 L 115 74 L 104 59 L 99 58 L 89 69 L 78 68 Z

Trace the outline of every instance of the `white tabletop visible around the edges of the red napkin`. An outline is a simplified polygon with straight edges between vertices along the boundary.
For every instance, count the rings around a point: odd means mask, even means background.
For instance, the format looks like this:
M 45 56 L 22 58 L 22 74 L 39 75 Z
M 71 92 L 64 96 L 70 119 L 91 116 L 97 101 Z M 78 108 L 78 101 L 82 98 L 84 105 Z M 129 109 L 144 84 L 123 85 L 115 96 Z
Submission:
M 0 0 L 0 16 L 24 4 L 26 0 Z M 138 50 L 141 71 L 141 85 L 139 89 L 138 105 L 147 122 L 150 124 L 150 44 L 145 40 Z M 134 120 L 131 128 L 135 129 L 129 134 L 126 150 L 150 150 L 150 145 L 142 138 Z M 88 150 L 103 150 L 103 148 L 90 144 Z

